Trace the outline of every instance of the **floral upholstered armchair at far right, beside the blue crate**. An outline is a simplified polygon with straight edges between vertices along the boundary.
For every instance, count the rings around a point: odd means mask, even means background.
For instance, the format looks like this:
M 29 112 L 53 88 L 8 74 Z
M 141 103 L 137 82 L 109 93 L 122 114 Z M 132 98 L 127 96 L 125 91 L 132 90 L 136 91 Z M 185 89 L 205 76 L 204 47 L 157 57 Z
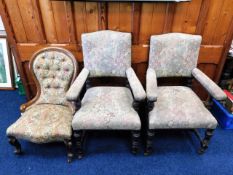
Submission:
M 149 107 L 146 155 L 152 152 L 155 129 L 192 129 L 200 139 L 198 152 L 202 154 L 208 148 L 217 121 L 192 91 L 192 78 L 215 99 L 225 100 L 226 95 L 197 68 L 200 44 L 201 36 L 198 35 L 169 33 L 151 37 L 146 75 Z M 157 79 L 167 77 L 182 77 L 187 86 L 157 87 Z M 203 140 L 199 128 L 206 129 Z

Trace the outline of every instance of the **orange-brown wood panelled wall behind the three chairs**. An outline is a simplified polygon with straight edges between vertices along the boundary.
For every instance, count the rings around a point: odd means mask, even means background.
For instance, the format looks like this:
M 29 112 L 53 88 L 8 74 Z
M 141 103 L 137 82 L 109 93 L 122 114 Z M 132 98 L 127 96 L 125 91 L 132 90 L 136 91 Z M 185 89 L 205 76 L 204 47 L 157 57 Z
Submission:
M 202 35 L 198 67 L 218 81 L 233 36 L 233 0 L 191 2 L 71 2 L 0 0 L 0 12 L 17 65 L 31 98 L 35 85 L 28 69 L 32 54 L 46 46 L 61 46 L 82 62 L 85 32 L 117 30 L 133 36 L 133 68 L 143 84 L 151 35 L 183 32 Z M 200 96 L 202 89 L 195 83 Z

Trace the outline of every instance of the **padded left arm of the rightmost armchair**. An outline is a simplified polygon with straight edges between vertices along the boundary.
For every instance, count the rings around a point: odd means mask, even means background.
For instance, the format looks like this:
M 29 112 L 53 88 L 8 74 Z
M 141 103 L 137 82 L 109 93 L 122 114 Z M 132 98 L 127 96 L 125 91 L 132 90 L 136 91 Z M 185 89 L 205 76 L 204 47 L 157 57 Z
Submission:
M 157 100 L 157 77 L 154 69 L 152 68 L 148 68 L 146 72 L 146 94 L 148 101 L 155 102 Z

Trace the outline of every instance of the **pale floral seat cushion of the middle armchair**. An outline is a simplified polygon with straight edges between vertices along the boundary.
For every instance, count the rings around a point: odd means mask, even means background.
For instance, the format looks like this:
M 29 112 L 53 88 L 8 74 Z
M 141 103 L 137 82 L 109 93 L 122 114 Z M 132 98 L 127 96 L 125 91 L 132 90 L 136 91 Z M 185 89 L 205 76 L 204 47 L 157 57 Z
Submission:
M 93 87 L 72 121 L 74 130 L 139 130 L 140 118 L 132 108 L 131 91 L 125 87 Z

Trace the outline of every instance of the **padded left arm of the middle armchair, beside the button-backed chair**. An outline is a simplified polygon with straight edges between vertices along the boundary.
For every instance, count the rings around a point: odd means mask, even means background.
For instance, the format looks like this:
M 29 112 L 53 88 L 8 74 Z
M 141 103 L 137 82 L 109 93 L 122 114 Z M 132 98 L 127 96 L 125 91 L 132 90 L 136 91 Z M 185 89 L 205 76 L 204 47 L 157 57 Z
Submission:
M 82 88 L 87 80 L 89 75 L 89 70 L 83 68 L 74 83 L 71 85 L 69 90 L 66 93 L 66 99 L 68 101 L 76 101 L 82 91 Z

